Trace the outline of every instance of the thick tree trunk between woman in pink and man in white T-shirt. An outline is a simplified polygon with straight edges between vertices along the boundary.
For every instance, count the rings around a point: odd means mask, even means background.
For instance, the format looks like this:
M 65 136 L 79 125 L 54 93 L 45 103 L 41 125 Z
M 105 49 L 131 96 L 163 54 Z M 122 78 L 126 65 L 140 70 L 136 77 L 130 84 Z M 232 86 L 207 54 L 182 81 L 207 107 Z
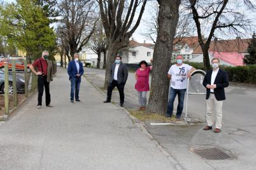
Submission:
M 152 81 L 147 109 L 148 112 L 164 115 L 167 110 L 169 93 L 167 72 L 171 65 L 173 39 L 179 18 L 180 0 L 162 0 L 159 1 L 159 4 L 159 30 L 153 53 Z

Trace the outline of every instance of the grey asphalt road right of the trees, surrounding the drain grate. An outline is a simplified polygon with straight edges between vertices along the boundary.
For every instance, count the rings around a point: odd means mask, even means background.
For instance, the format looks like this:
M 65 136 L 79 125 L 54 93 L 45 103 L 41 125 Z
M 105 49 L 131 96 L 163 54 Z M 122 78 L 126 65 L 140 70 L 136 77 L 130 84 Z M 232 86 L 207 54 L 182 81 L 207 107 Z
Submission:
M 105 70 L 85 69 L 85 72 L 97 73 L 98 77 L 104 79 Z M 134 74 L 130 72 L 125 91 L 135 100 L 138 95 L 136 95 L 134 84 Z M 227 100 L 224 101 L 221 133 L 203 131 L 204 124 L 188 127 L 146 124 L 148 131 L 184 169 L 255 169 L 256 89 L 246 86 L 229 86 L 225 91 Z M 127 96 L 127 100 L 131 96 Z M 134 107 L 134 102 L 131 104 L 127 101 L 125 105 Z M 129 106 L 126 107 L 129 108 Z M 204 121 L 204 115 L 205 96 L 189 95 L 188 116 Z M 219 147 L 229 152 L 232 159 L 207 160 L 190 151 L 191 147 L 205 146 Z

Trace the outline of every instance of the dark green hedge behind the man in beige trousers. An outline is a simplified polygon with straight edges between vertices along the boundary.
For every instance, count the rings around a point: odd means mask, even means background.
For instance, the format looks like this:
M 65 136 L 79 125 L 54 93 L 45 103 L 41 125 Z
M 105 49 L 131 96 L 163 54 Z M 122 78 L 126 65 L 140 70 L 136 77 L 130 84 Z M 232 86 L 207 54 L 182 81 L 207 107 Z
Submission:
M 185 62 L 192 67 L 200 70 L 204 70 L 203 63 L 194 63 L 194 62 Z M 220 66 L 220 69 L 223 69 L 227 72 L 229 76 L 229 81 L 231 82 L 245 82 L 256 84 L 256 65 L 245 65 L 237 67 L 227 67 Z

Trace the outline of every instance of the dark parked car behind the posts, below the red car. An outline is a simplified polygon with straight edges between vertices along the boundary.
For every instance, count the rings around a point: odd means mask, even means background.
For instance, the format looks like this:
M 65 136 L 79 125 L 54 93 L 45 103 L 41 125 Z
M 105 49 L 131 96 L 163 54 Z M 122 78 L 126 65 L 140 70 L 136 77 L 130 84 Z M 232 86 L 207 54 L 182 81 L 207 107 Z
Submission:
M 9 78 L 9 94 L 13 94 L 13 76 L 11 72 L 8 75 Z M 25 92 L 25 79 L 20 75 L 16 75 L 17 92 Z M 4 94 L 4 72 L 0 69 L 0 93 Z

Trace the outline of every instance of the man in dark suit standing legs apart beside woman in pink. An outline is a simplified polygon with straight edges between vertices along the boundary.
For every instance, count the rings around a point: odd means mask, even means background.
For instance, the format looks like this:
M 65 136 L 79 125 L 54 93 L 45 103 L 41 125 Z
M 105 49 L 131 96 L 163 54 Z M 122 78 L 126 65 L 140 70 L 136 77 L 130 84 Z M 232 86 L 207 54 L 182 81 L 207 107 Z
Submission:
M 112 91 L 117 86 L 120 95 L 120 106 L 124 107 L 124 86 L 128 77 L 128 70 L 124 63 L 122 63 L 121 56 L 117 56 L 115 63 L 110 69 L 111 77 L 108 84 L 108 96 L 104 103 L 109 103 L 111 101 Z

